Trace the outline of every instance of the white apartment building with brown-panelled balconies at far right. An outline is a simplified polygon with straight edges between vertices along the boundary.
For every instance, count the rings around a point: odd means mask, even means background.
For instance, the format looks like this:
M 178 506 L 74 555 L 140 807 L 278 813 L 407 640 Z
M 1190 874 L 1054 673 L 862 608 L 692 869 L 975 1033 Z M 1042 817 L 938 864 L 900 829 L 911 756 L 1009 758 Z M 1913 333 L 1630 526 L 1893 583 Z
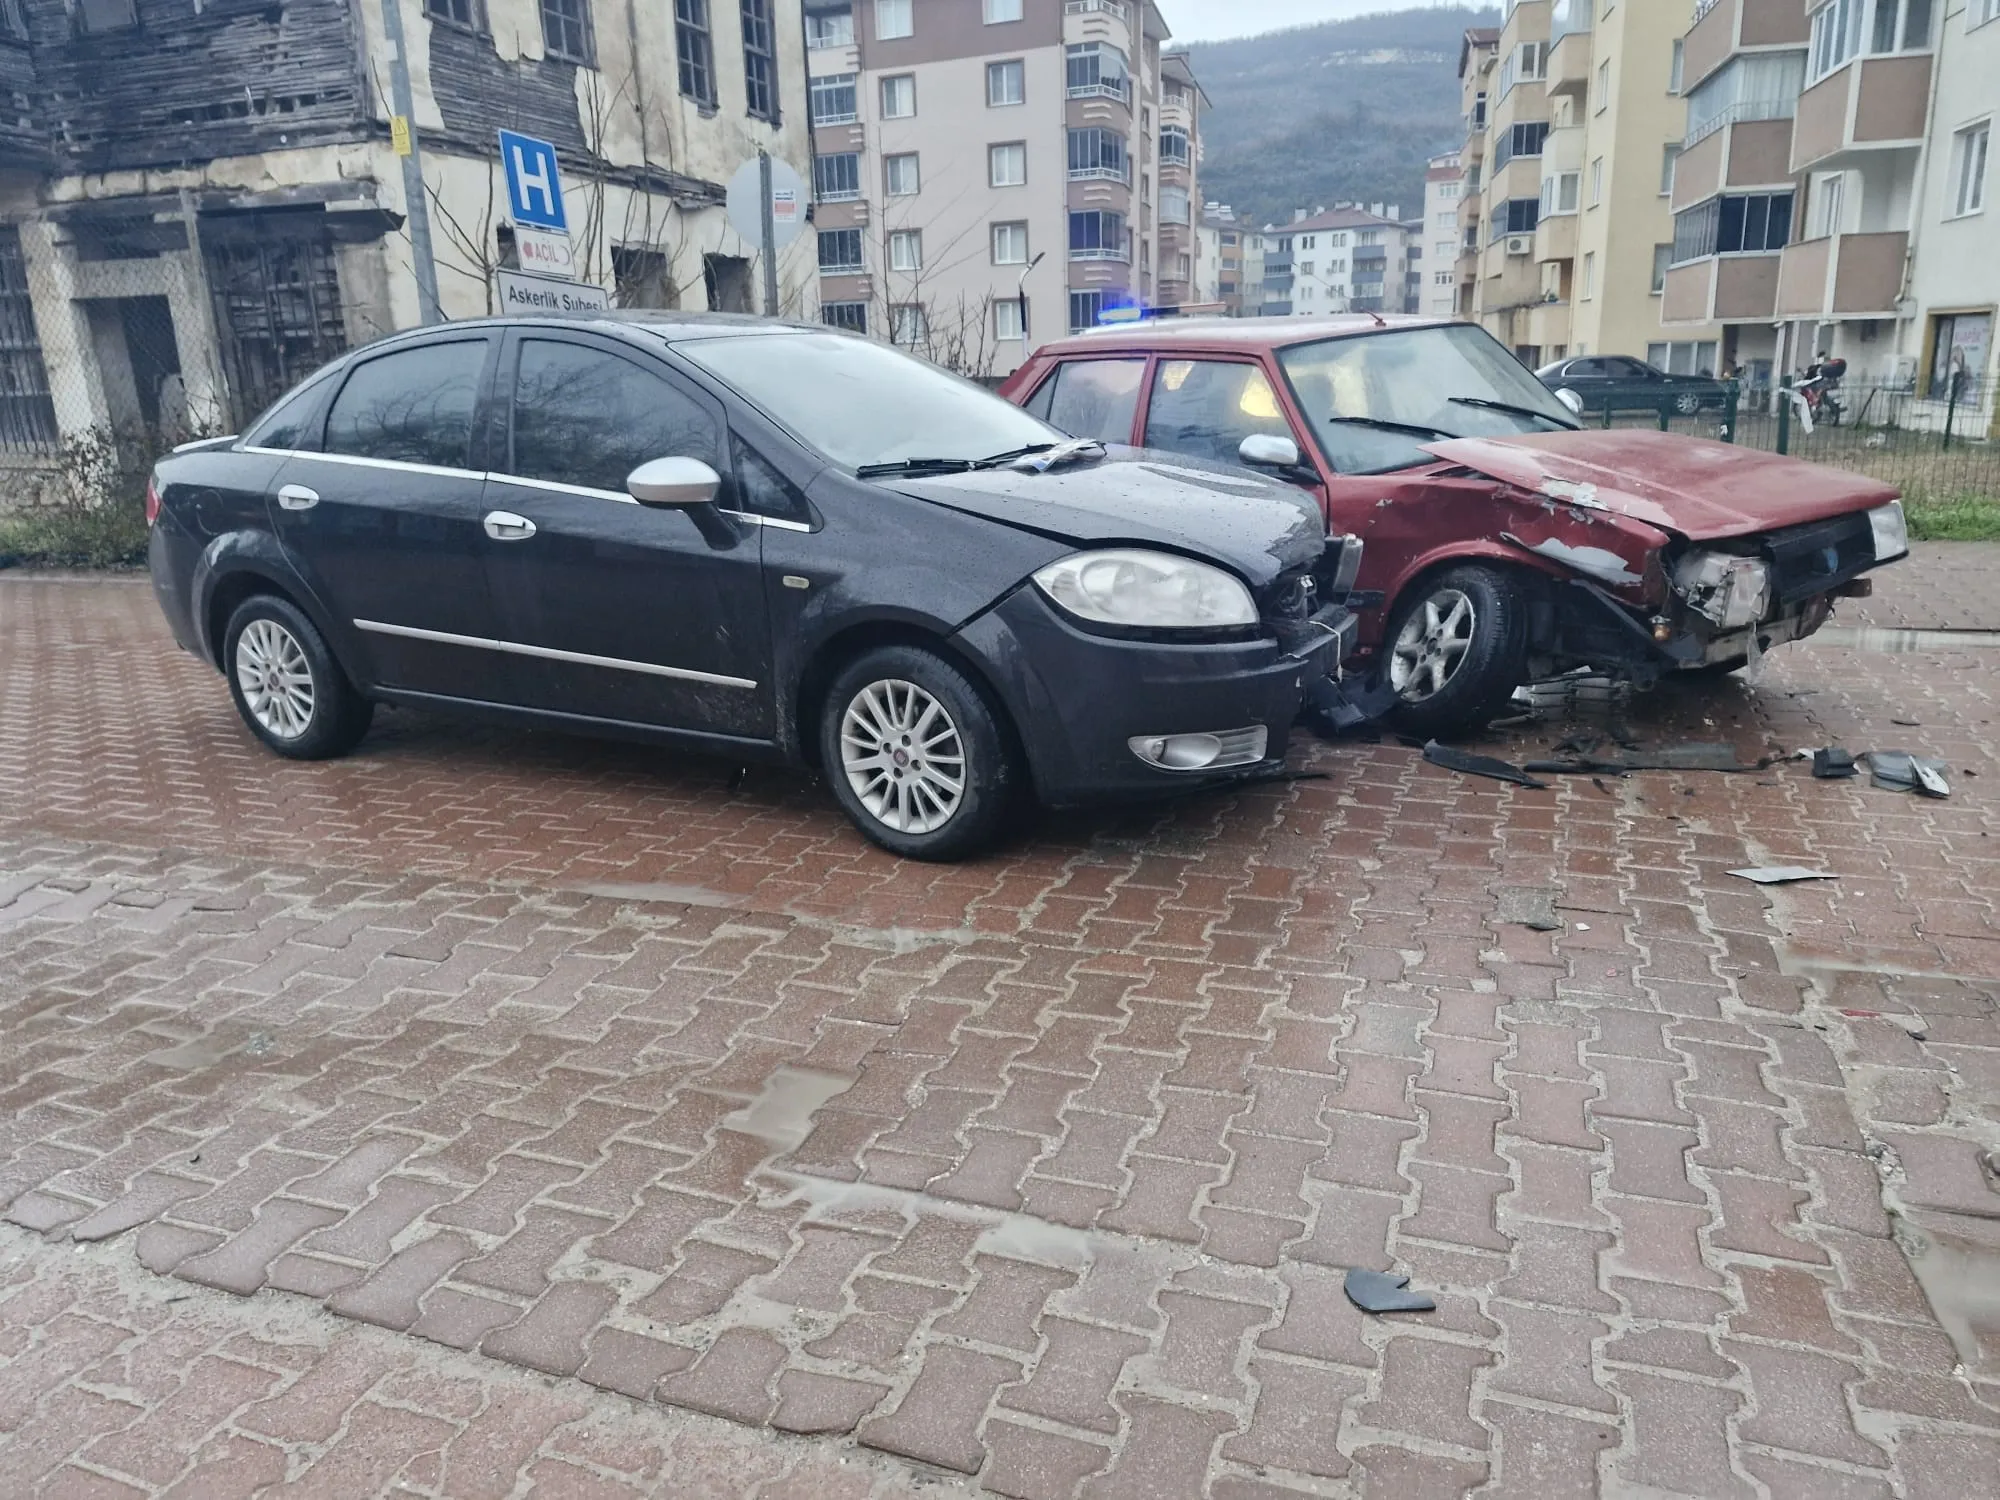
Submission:
M 1670 320 L 1992 422 L 2000 0 L 1714 0 L 1686 34 Z

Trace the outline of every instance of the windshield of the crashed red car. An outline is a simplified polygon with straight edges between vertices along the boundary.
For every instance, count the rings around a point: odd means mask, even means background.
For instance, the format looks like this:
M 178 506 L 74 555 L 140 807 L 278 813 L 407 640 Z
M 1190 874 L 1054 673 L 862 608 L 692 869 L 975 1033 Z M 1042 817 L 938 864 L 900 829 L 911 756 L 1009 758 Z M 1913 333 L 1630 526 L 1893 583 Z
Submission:
M 1434 462 L 1422 444 L 1436 438 L 1576 426 L 1548 386 L 1472 324 L 1294 344 L 1278 350 L 1278 364 L 1292 380 L 1314 442 L 1342 474 Z M 1418 430 L 1396 430 L 1398 424 Z

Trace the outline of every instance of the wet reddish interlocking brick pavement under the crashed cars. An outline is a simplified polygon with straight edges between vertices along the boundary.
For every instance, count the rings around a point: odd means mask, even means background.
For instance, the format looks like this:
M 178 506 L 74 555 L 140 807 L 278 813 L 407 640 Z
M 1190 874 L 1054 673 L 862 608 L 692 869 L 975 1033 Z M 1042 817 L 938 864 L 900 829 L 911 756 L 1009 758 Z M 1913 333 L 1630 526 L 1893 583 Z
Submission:
M 1962 622 L 1932 574 L 1872 618 Z M 556 736 L 390 714 L 280 764 L 144 588 L 0 580 L 0 1348 L 42 1362 L 0 1368 L 0 1408 L 40 1400 L 0 1476 L 158 1490 L 290 1408 L 306 1488 L 396 1428 L 394 1482 L 458 1494 L 442 1424 L 528 1392 L 580 1412 L 512 1470 L 576 1466 L 526 1472 L 550 1492 L 630 1474 L 632 1434 L 672 1494 L 704 1442 L 772 1494 L 842 1460 L 1018 1496 L 1986 1492 L 1996 668 L 1804 648 L 1634 712 L 1938 754 L 1942 804 L 1302 740 L 1324 780 L 940 870 L 796 778 Z M 1726 874 L 1756 862 L 1840 880 Z M 1504 922 L 1520 890 L 1562 930 Z M 1364 1318 L 1356 1264 L 1438 1312 Z M 198 1398 L 108 1368 L 148 1344 Z M 346 1348 L 410 1374 L 362 1400 Z

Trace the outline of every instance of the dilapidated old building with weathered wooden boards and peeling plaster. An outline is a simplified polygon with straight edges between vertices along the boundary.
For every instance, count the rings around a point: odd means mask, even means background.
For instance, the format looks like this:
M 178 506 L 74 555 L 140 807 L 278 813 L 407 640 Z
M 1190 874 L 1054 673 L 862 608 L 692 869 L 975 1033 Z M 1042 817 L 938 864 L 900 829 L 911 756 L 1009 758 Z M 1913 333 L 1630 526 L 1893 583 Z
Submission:
M 750 308 L 722 184 L 798 164 L 780 0 L 396 0 L 444 316 L 516 264 L 496 128 L 556 144 L 580 280 L 626 306 Z M 380 4 L 0 0 L 0 466 L 232 430 L 424 316 Z M 780 262 L 812 300 L 810 248 Z

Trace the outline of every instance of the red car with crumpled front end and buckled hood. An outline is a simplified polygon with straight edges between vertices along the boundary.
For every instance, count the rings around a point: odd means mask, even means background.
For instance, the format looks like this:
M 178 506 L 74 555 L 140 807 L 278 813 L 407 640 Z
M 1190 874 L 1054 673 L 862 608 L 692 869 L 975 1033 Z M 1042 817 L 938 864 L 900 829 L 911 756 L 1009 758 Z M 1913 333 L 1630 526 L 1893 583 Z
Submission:
M 1730 672 L 1908 552 L 1896 490 L 1720 442 L 1586 430 L 1482 328 L 1200 318 L 1050 344 L 1002 394 L 1080 438 L 1250 466 L 1366 542 L 1360 654 L 1410 730 L 1590 666 Z

